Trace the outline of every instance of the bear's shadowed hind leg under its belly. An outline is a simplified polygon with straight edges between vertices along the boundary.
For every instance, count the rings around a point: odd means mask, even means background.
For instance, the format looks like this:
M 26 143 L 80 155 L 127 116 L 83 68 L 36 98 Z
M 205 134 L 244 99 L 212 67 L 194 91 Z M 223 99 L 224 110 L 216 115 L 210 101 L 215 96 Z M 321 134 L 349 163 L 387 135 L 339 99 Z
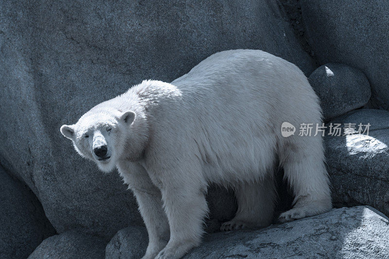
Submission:
M 235 217 L 221 226 L 229 231 L 268 226 L 273 218 L 276 191 L 271 175 L 261 182 L 243 182 L 235 187 L 238 210 Z

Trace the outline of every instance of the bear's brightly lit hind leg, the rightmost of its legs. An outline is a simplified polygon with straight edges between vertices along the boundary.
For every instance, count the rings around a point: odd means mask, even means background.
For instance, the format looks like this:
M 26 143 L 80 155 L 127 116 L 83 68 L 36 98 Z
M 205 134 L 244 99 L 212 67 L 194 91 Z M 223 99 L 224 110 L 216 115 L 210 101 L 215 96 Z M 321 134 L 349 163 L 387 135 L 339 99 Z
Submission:
M 321 138 L 306 137 L 314 149 L 301 148 L 288 153 L 283 162 L 284 175 L 294 192 L 294 207 L 280 215 L 280 221 L 292 221 L 331 210 L 331 192 L 324 165 Z

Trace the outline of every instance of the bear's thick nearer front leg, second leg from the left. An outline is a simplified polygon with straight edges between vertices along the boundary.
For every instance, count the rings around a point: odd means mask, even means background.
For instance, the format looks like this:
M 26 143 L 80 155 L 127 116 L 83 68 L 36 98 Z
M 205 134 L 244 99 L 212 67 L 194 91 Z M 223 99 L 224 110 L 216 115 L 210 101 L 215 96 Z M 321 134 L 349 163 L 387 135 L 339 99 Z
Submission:
M 200 244 L 203 218 L 208 213 L 206 185 L 198 173 L 166 174 L 161 179 L 162 200 L 170 225 L 170 240 L 156 259 L 179 259 Z

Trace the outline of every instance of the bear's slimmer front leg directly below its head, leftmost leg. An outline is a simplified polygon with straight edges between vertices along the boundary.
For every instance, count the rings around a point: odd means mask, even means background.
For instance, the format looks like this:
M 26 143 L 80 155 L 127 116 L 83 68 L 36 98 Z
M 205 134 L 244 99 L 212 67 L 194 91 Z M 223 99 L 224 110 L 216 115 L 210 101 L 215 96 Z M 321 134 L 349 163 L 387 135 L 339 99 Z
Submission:
M 149 244 L 142 259 L 154 259 L 169 240 L 169 224 L 162 208 L 161 192 L 141 165 L 122 162 L 118 169 L 124 182 L 134 192 L 149 235 Z

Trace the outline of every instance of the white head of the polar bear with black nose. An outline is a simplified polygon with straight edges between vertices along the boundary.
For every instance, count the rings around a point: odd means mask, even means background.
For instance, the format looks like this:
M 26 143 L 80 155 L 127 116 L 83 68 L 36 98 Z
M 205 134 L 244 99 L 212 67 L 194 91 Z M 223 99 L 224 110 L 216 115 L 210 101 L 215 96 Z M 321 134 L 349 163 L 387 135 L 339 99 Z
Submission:
M 140 158 L 147 136 L 133 111 L 91 109 L 73 125 L 62 125 L 61 133 L 73 141 L 81 156 L 110 172 L 120 159 Z M 138 127 L 137 125 L 138 124 Z

